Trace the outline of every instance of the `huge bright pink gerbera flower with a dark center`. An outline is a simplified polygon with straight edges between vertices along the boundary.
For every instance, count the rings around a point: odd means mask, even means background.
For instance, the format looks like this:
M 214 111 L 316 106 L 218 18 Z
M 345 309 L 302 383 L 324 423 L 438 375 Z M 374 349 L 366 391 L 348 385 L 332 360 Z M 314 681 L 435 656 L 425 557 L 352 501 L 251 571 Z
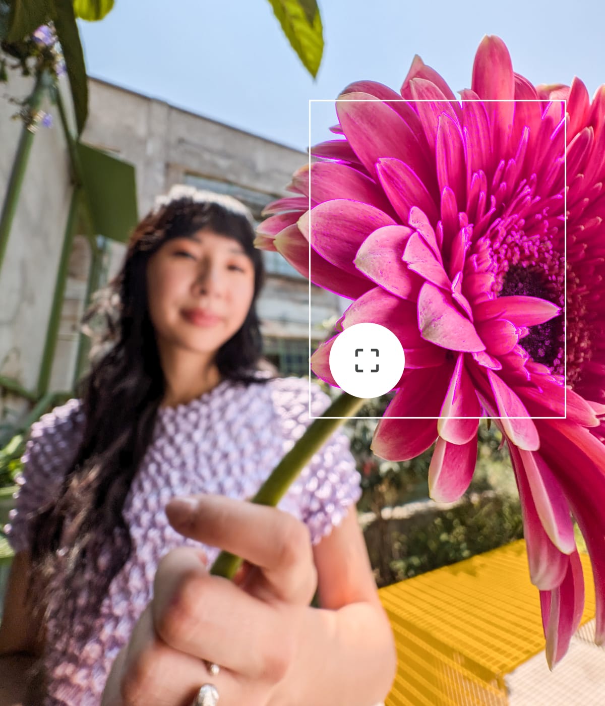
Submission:
M 496 418 L 553 665 L 584 601 L 572 514 L 605 640 L 605 87 L 592 104 L 577 79 L 535 88 L 513 72 L 505 44 L 485 37 L 461 96 L 418 56 L 400 93 L 347 86 L 331 128 L 342 137 L 311 148 L 319 161 L 265 210 L 256 242 L 306 276 L 310 251 L 311 280 L 354 300 L 338 330 L 374 322 L 397 335 L 406 369 L 371 448 L 407 460 L 436 442 L 433 498 L 465 492 L 478 418 Z M 335 337 L 311 358 L 330 385 Z

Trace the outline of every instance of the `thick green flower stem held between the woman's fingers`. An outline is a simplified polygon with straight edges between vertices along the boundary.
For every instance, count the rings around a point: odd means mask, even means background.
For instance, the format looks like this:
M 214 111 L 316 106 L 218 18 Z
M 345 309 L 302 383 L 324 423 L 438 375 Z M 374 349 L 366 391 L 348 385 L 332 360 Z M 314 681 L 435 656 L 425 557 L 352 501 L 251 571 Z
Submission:
M 328 441 L 339 426 L 349 417 L 354 417 L 365 402 L 367 400 L 363 397 L 354 397 L 348 393 L 339 395 L 321 417 L 313 419 L 301 438 L 296 441 L 273 469 L 268 479 L 260 486 L 251 502 L 275 507 L 301 470 L 309 463 L 311 457 Z M 325 419 L 325 417 L 343 417 L 343 419 Z M 241 566 L 241 562 L 239 556 L 222 551 L 215 563 L 212 564 L 210 573 L 214 576 L 232 579 Z

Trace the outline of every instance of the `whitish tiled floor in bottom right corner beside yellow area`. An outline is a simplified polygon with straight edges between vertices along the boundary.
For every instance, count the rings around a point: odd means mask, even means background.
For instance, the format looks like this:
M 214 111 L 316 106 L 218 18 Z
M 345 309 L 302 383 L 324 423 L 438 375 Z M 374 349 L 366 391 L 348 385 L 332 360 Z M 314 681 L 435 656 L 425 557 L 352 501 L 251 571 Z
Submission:
M 572 638 L 553 671 L 544 652 L 517 667 L 505 678 L 510 706 L 605 706 L 605 649 L 593 639 L 594 621 Z

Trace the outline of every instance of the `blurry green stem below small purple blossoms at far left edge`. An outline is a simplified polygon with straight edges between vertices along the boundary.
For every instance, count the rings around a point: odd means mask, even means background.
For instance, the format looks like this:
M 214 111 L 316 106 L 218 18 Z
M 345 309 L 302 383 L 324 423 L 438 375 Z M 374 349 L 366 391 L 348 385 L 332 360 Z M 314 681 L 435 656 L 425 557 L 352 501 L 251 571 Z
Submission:
M 47 87 L 48 78 L 46 72 L 42 71 L 36 76 L 34 89 L 25 103 L 25 106 L 28 107 L 32 114 L 37 112 L 40 108 L 42 96 L 44 95 L 44 91 L 47 90 Z M 2 204 L 2 213 L 0 213 L 0 269 L 2 267 L 2 261 L 4 260 L 4 253 L 6 253 L 6 246 L 8 245 L 8 236 L 11 234 L 11 226 L 13 225 L 13 219 L 17 211 L 19 195 L 25 177 L 25 169 L 28 167 L 32 143 L 34 141 L 34 133 L 35 131 L 32 131 L 30 127 L 23 125 L 17 153 L 13 161 L 13 168 L 11 169 L 11 177 L 8 179 L 6 195 L 4 196 L 4 203 Z

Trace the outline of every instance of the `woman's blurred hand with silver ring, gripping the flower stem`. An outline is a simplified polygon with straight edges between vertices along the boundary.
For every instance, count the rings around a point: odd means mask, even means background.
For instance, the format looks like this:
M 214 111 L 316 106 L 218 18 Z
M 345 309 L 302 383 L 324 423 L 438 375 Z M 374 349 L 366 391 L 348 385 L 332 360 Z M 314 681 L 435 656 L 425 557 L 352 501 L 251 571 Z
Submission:
M 200 550 L 162 557 L 152 602 L 114 662 L 102 706 L 191 706 L 205 683 L 220 706 L 284 706 L 317 585 L 306 525 L 224 496 L 172 501 L 167 515 L 181 534 L 246 563 L 232 582 L 211 576 Z M 205 660 L 220 674 L 211 676 Z

